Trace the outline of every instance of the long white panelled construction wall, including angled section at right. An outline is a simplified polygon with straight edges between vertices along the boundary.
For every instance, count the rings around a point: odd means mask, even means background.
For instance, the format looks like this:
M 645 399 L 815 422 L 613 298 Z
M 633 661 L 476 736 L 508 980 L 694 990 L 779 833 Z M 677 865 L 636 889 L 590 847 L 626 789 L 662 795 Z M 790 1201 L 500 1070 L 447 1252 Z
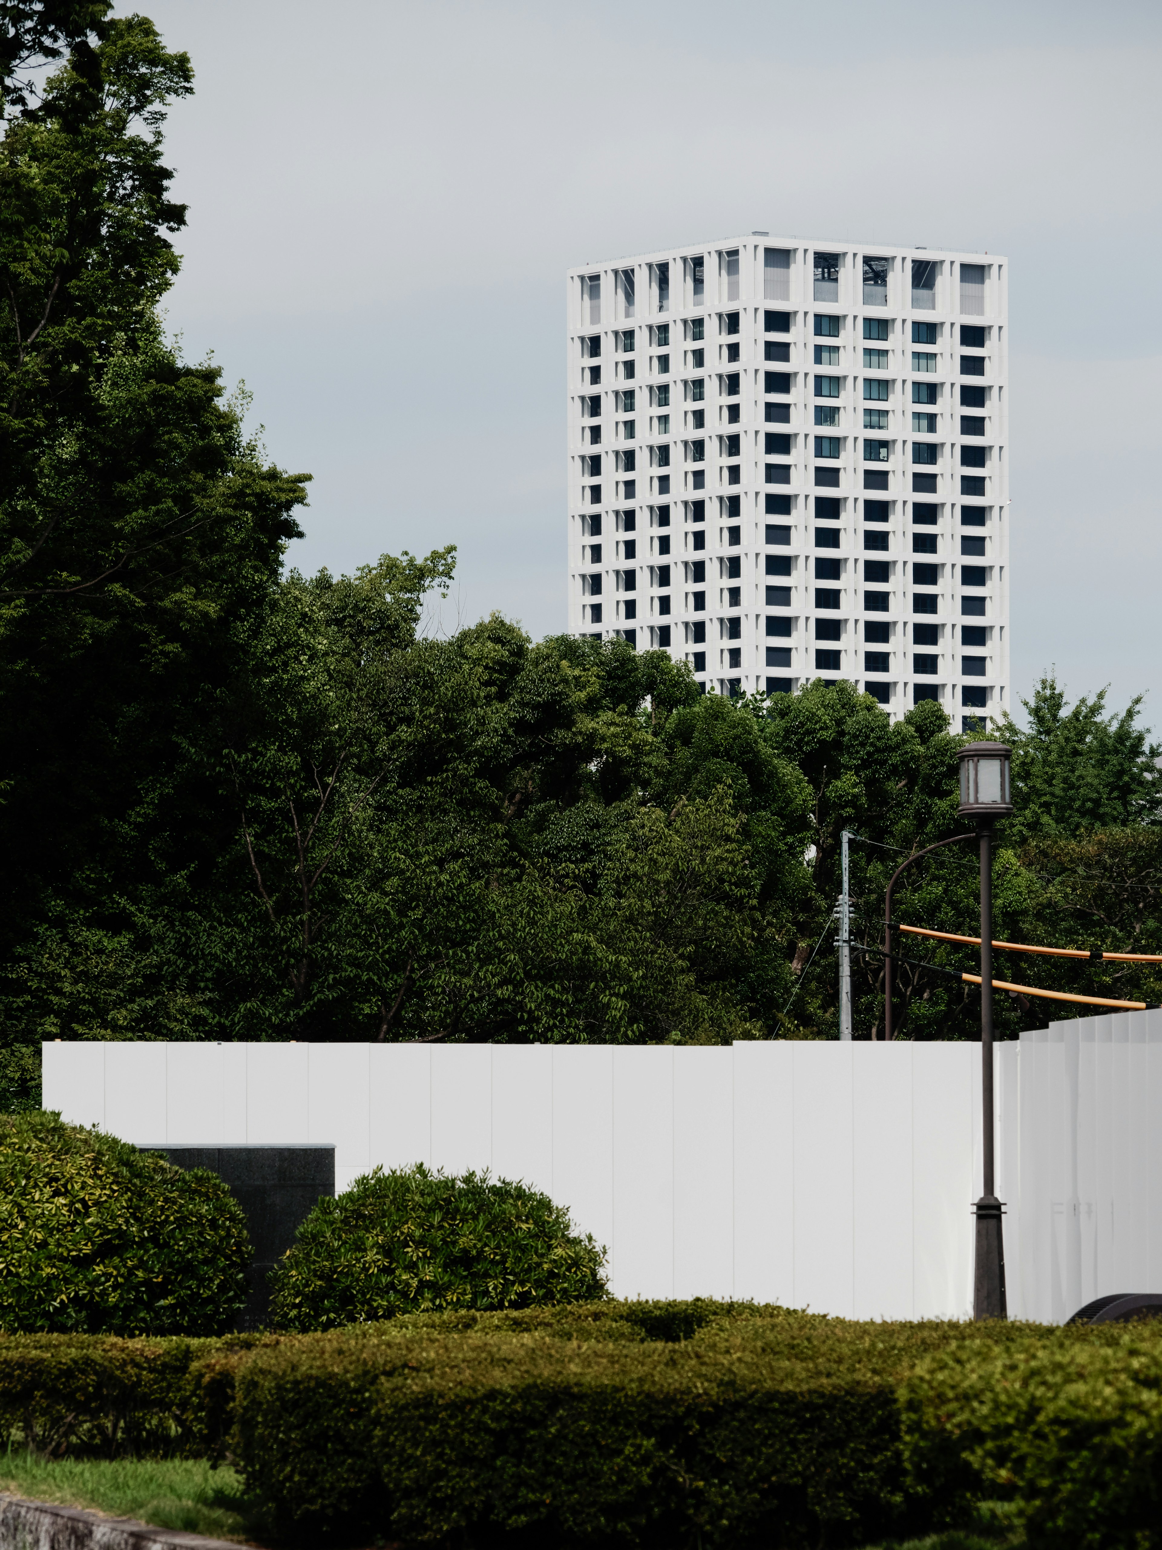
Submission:
M 1002 1045 L 1013 1316 L 1162 1291 L 1162 1014 Z M 50 1043 L 45 1107 L 133 1142 L 322 1141 L 373 1167 L 488 1167 L 566 1204 L 620 1296 L 964 1318 L 979 1045 Z

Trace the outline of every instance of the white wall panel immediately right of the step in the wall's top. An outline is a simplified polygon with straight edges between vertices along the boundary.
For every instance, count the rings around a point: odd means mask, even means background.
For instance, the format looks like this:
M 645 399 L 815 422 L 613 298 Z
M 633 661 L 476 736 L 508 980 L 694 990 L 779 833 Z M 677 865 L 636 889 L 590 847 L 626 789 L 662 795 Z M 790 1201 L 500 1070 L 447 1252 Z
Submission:
M 795 1045 L 734 1045 L 734 1296 L 795 1304 Z

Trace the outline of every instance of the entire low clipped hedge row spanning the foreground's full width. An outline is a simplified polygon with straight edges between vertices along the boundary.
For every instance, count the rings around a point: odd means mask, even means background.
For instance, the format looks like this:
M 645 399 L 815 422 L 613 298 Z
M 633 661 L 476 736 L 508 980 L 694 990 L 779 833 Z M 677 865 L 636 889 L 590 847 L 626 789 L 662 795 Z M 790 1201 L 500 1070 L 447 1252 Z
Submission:
M 1162 1330 L 751 1305 L 417 1314 L 325 1335 L 0 1339 L 53 1452 L 223 1448 L 299 1544 L 866 1544 L 1001 1502 L 1033 1550 L 1162 1547 Z

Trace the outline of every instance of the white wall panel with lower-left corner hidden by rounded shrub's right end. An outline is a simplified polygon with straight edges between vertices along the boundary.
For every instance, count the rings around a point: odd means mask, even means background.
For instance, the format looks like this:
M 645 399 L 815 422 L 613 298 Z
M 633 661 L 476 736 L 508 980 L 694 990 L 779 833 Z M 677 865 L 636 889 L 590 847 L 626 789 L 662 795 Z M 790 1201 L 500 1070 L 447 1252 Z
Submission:
M 614 1051 L 553 1046 L 553 1187 L 578 1232 L 592 1232 L 614 1276 Z

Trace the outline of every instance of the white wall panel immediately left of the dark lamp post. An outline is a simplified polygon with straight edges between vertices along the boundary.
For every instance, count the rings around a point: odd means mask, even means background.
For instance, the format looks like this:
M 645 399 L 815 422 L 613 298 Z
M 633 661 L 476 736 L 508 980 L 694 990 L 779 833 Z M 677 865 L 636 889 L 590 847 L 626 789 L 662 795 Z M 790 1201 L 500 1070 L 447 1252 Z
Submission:
M 913 1313 L 973 1308 L 973 1087 L 981 1046 L 913 1045 Z

